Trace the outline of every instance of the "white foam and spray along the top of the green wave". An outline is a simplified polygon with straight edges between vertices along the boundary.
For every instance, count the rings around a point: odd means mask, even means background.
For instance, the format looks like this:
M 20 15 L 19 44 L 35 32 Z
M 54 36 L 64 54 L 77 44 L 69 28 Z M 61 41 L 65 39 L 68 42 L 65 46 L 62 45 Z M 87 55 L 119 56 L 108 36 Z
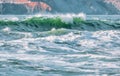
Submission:
M 86 20 L 86 15 L 84 13 L 79 14 L 35 14 L 35 15 L 0 15 L 0 20 L 10 20 L 19 21 L 24 19 L 29 19 L 32 17 L 44 17 L 44 18 L 55 18 L 60 17 L 64 22 L 72 22 L 74 17 L 82 18 Z M 4 16 L 4 17 L 3 17 Z

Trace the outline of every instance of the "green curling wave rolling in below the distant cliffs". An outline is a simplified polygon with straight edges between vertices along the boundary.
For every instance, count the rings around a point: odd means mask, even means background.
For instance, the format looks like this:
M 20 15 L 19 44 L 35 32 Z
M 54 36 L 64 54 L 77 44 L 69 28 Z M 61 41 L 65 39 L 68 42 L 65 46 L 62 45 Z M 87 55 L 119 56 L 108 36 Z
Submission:
M 74 17 L 71 22 L 65 22 L 60 17 L 45 18 L 33 17 L 23 21 L 0 21 L 0 29 L 9 27 L 13 31 L 49 31 L 53 28 L 60 29 L 75 29 L 75 30 L 119 30 L 120 22 L 116 21 L 101 21 L 101 20 L 83 20 L 82 18 Z

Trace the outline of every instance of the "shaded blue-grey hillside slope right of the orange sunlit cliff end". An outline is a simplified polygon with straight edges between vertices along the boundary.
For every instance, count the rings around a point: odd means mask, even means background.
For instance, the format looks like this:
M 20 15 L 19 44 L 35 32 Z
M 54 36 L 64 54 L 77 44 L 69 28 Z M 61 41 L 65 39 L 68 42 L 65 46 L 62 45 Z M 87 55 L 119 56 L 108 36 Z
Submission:
M 120 14 L 120 11 L 104 0 L 46 0 L 54 12 L 86 14 Z

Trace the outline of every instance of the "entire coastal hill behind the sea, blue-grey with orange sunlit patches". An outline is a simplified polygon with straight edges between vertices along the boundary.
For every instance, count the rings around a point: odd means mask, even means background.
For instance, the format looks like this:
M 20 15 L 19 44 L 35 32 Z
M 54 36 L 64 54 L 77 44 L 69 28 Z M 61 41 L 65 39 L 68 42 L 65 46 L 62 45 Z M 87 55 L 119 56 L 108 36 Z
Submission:
M 120 0 L 0 0 L 1 14 L 85 13 L 119 15 Z

